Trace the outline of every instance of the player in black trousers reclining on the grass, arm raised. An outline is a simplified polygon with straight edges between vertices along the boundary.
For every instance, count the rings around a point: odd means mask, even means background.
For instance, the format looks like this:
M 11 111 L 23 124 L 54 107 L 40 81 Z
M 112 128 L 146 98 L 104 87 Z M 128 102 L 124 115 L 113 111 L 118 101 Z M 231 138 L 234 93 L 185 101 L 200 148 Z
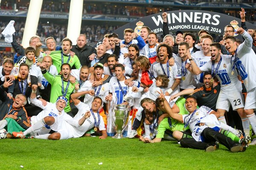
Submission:
M 216 116 L 219 116 L 219 113 L 206 106 L 201 106 L 197 109 L 197 100 L 194 96 L 188 96 L 186 98 L 185 107 L 189 111 L 187 115 L 173 113 L 164 95 L 161 94 L 159 98 L 163 101 L 166 112 L 173 119 L 183 122 L 185 124 L 184 127 L 189 126 L 192 131 L 193 138 L 182 138 L 180 140 L 181 146 L 214 151 L 218 148 L 218 145 L 215 144 L 217 141 L 227 147 L 231 152 L 242 152 L 246 150 L 246 147 L 218 132 L 220 126 L 218 125 Z M 201 118 L 205 118 L 204 121 Z

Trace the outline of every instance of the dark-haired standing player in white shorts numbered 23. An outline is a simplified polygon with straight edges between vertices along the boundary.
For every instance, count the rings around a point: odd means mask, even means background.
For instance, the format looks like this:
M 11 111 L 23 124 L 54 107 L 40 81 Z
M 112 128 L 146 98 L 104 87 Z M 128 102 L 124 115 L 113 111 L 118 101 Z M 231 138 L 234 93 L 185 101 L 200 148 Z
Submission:
M 239 113 L 241 118 L 244 117 L 244 98 L 241 94 L 242 85 L 237 78 L 236 70 L 234 70 L 235 65 L 231 65 L 230 61 L 233 61 L 232 57 L 221 54 L 220 43 L 213 42 L 210 46 L 212 60 L 200 68 L 192 60 L 192 69 L 189 69 L 196 75 L 205 71 L 211 71 L 212 77 L 216 76 L 219 79 L 221 82 L 221 91 L 218 96 L 216 109 L 221 114 L 219 120 L 227 124 L 224 113 L 225 111 L 229 111 L 230 105 L 232 105 L 234 111 Z

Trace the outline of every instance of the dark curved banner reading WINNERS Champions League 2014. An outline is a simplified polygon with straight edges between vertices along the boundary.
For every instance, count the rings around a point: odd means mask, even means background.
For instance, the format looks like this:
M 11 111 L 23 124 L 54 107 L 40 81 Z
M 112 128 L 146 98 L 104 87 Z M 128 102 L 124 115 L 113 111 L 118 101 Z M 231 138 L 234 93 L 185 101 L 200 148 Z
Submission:
M 168 11 L 167 23 L 169 31 L 175 34 L 177 30 L 181 31 L 200 31 L 204 29 L 211 34 L 223 35 L 224 27 L 233 25 L 236 29 L 241 26 L 241 19 L 230 15 L 210 11 L 182 10 Z M 123 31 L 126 28 L 132 28 L 137 34 L 140 34 L 140 28 L 148 26 L 152 32 L 163 34 L 162 13 L 149 15 L 126 24 L 114 31 L 122 39 Z M 256 29 L 256 26 L 246 22 L 247 28 Z

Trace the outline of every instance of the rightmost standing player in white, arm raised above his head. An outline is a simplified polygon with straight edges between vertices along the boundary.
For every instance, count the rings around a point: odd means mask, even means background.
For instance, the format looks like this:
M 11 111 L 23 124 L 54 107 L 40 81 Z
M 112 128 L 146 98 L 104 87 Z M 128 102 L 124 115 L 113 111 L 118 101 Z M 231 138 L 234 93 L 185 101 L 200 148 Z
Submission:
M 230 54 L 233 54 L 234 62 L 233 67 L 236 66 L 241 78 L 244 80 L 244 86 L 247 90 L 247 96 L 245 100 L 244 113 L 242 118 L 242 124 L 244 127 L 244 133 L 249 135 L 250 125 L 253 131 L 256 131 L 256 116 L 254 110 L 256 109 L 256 79 L 253 74 L 256 73 L 254 64 L 256 63 L 256 54 L 252 49 L 253 39 L 243 28 L 237 29 L 237 34 L 241 34 L 244 37 L 244 42 L 241 45 L 237 45 L 236 39 L 232 36 L 228 36 L 224 40 L 225 48 Z M 234 68 L 233 68 L 234 69 Z

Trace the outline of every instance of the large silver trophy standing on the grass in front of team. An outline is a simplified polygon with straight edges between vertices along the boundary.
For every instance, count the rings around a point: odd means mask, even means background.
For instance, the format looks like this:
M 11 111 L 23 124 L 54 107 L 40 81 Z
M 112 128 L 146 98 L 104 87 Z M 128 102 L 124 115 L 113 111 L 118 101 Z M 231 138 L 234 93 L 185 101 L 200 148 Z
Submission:
M 116 130 L 116 135 L 113 138 L 121 139 L 125 127 L 128 125 L 129 106 L 128 105 L 114 105 L 112 111 L 112 122 Z

